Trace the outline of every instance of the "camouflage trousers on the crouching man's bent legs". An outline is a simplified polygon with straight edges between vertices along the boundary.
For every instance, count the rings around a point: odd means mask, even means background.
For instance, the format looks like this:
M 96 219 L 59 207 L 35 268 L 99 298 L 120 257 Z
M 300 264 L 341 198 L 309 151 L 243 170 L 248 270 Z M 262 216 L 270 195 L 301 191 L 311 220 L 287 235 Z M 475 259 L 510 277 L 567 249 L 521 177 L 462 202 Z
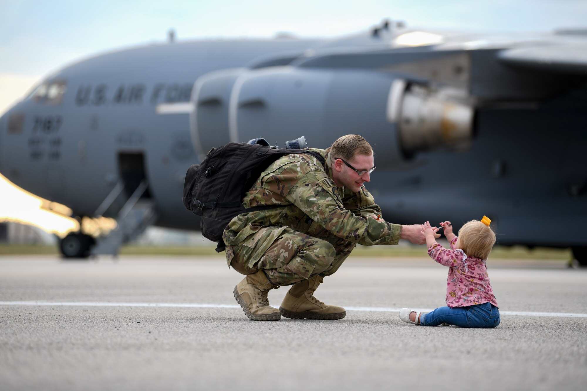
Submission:
M 271 240 L 271 228 L 262 228 L 267 231 L 257 232 L 255 247 L 262 245 L 264 239 Z M 227 255 L 232 257 L 230 265 L 245 275 L 264 270 L 269 281 L 275 285 L 292 285 L 316 274 L 326 277 L 338 270 L 355 248 L 355 243 L 340 239 L 328 231 L 317 233 L 321 237 L 286 227 L 258 261 L 253 263 L 250 259 L 254 253 L 252 244 L 227 246 Z

